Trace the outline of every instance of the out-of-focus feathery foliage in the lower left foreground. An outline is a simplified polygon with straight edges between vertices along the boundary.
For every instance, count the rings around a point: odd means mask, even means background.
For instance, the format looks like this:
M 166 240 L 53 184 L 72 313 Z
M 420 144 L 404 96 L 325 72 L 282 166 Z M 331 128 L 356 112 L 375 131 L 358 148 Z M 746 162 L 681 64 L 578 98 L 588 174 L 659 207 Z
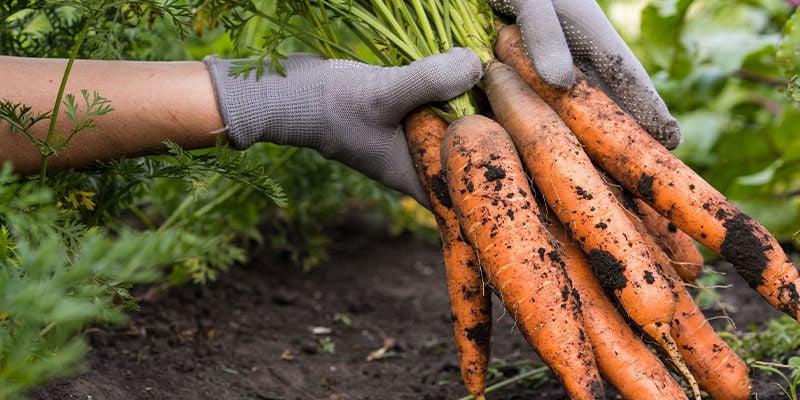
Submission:
M 75 371 L 90 324 L 135 308 L 134 283 L 218 245 L 178 229 L 87 228 L 48 187 L 0 170 L 0 398 Z

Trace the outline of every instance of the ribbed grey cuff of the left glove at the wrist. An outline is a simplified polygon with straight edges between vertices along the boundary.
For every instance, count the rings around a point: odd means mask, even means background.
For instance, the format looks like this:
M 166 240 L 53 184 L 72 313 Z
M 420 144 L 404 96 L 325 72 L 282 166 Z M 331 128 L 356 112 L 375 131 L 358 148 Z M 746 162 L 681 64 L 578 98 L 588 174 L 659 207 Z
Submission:
M 268 65 L 259 79 L 255 69 L 247 77 L 231 76 L 237 61 L 245 60 L 203 60 L 231 145 L 239 150 L 258 142 L 317 148 L 322 142 L 321 85 L 289 84 L 288 78 L 269 72 Z

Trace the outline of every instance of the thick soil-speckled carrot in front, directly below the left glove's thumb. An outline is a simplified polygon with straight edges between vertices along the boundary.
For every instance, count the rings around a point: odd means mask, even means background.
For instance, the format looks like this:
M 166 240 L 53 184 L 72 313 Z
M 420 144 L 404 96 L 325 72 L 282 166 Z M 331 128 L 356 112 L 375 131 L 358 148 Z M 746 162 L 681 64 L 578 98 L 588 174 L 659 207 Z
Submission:
M 604 398 L 579 299 L 508 134 L 489 118 L 462 117 L 441 152 L 453 209 L 492 289 L 570 398 Z

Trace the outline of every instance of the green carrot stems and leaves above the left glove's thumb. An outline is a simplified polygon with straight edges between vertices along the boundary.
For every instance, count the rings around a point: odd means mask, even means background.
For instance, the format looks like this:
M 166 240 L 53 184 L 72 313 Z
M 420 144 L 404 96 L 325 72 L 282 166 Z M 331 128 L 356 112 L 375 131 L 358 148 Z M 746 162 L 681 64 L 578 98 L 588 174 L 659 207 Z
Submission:
M 206 4 L 198 9 L 201 24 L 215 24 L 202 18 L 213 15 L 213 7 Z M 265 23 L 248 24 L 253 17 Z M 261 56 L 242 61 L 234 73 L 247 74 L 255 68 L 260 75 L 266 58 L 272 60 L 270 68 L 283 73 L 280 60 L 285 55 L 279 46 L 286 40 L 327 58 L 383 66 L 406 65 L 453 47 L 471 48 L 484 63 L 493 58 L 493 14 L 480 0 L 290 0 L 280 2 L 274 10 L 252 6 L 234 18 L 238 22 L 225 22 L 238 23 L 239 32 L 266 32 Z M 472 95 L 466 93 L 431 111 L 452 122 L 475 114 L 477 108 Z

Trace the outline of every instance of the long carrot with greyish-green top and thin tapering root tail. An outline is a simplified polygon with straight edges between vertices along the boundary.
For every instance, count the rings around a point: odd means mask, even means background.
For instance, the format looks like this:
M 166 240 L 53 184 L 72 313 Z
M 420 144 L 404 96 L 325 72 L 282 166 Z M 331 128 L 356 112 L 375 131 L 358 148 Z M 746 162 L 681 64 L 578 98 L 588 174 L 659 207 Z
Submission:
M 601 284 L 696 388 L 671 337 L 675 294 L 662 266 L 575 135 L 513 68 L 490 63 L 484 81 L 498 121 L 550 209 L 588 254 Z

